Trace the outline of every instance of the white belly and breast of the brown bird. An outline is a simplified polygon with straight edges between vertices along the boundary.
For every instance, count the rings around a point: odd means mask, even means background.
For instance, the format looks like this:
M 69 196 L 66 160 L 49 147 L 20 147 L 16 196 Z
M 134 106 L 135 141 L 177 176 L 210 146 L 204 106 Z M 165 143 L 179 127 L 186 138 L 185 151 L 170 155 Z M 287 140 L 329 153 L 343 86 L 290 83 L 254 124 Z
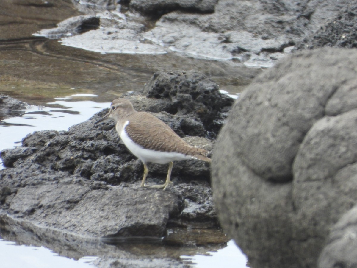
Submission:
M 192 157 L 176 152 L 158 152 L 150 149 L 145 149 L 140 145 L 135 144 L 128 137 L 125 132 L 125 126 L 129 124 L 129 121 L 126 121 L 122 129 L 116 128 L 119 133 L 120 138 L 124 142 L 125 146 L 130 150 L 132 154 L 134 154 L 137 158 L 139 158 L 142 162 L 152 162 L 157 164 L 167 164 L 171 161 L 175 160 L 185 160 L 192 159 Z

